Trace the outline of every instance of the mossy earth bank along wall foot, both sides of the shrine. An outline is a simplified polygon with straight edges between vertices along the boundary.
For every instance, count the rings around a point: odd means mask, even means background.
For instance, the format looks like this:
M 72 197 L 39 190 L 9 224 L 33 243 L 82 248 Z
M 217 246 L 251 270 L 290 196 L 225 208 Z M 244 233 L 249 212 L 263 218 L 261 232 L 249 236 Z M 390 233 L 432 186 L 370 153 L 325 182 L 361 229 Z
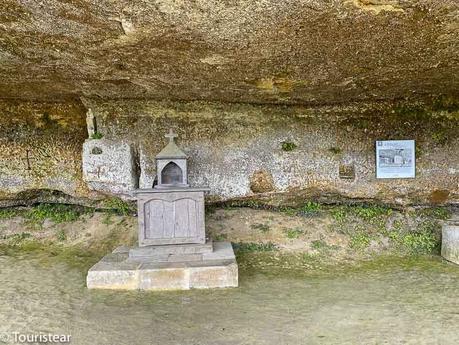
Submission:
M 2 209 L 0 254 L 47 252 L 87 270 L 115 247 L 135 243 L 132 205 L 113 199 L 106 206 L 103 212 L 53 204 Z M 206 222 L 214 240 L 233 242 L 241 272 L 326 271 L 381 257 L 438 256 L 441 222 L 450 213 L 447 208 L 401 211 L 305 201 L 270 210 L 209 208 Z M 8 228 L 17 222 L 15 230 Z

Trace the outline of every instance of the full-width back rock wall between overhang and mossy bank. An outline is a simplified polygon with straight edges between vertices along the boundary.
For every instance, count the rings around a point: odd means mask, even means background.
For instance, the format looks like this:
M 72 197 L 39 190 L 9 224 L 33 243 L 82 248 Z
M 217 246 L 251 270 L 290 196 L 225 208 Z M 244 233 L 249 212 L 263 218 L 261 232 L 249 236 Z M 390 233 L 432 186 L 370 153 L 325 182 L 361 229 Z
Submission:
M 169 128 L 190 156 L 190 183 L 209 186 L 209 201 L 459 202 L 459 117 L 450 103 L 306 108 L 86 99 L 85 106 L 20 104 L 3 102 L 0 112 L 4 205 L 43 193 L 53 197 L 46 193 L 50 190 L 56 198 L 87 203 L 128 197 L 137 186 L 151 188 L 154 157 Z M 95 118 L 101 139 L 86 139 L 85 114 Z M 415 179 L 375 178 L 375 141 L 383 139 L 416 140 Z

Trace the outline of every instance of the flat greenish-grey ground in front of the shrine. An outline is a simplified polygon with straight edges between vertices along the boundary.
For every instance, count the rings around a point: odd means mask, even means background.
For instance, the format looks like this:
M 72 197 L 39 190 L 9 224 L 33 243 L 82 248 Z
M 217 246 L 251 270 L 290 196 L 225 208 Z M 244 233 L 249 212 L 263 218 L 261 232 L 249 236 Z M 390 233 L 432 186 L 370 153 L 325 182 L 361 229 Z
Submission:
M 358 270 L 240 269 L 237 289 L 88 290 L 87 267 L 0 255 L 0 344 L 12 332 L 72 345 L 456 345 L 459 266 L 438 257 Z

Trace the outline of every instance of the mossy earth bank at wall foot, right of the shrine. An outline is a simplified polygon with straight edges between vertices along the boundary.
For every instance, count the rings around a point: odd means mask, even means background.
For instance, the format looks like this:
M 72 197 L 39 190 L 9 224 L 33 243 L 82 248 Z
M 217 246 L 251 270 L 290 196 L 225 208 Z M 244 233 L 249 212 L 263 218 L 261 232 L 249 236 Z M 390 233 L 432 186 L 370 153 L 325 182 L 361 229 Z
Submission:
M 211 224 L 210 230 L 215 239 L 239 237 L 238 263 L 247 271 L 334 270 L 381 258 L 438 256 L 441 224 L 451 214 L 441 207 L 397 210 L 306 201 L 300 207 L 269 210 L 257 204 L 260 215 L 255 216 L 253 209 L 237 206 L 229 206 L 227 213 L 216 211 L 214 217 L 223 225 Z M 256 225 L 241 230 L 241 221 Z

